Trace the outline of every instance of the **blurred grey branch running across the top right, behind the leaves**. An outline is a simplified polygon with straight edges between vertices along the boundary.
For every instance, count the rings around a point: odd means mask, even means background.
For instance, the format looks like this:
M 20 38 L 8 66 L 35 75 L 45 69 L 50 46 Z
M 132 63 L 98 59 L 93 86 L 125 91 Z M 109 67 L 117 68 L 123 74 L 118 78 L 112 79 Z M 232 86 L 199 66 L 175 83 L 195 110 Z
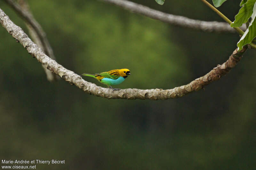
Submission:
M 136 4 L 127 0 L 101 0 L 103 2 L 115 4 L 126 10 L 134 13 L 139 13 L 147 17 L 157 19 L 163 22 L 167 22 L 172 25 L 192 28 L 196 30 L 202 30 L 206 32 L 230 32 L 235 33 L 236 30 L 232 28 L 228 23 L 217 21 L 200 21 L 196 19 L 190 19 L 183 16 L 167 14 L 161 11 L 157 11 L 147 6 Z M 241 27 L 242 30 L 246 30 L 246 26 Z

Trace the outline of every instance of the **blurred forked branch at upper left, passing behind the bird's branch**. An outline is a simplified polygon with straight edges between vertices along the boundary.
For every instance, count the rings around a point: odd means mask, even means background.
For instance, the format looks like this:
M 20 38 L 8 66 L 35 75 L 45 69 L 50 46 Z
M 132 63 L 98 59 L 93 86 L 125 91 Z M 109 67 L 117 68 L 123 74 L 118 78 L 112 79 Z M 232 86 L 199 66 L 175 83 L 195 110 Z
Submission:
M 9 4 L 19 15 L 21 18 L 25 20 L 26 26 L 28 27 L 29 34 L 32 39 L 36 42 L 36 44 L 42 48 L 46 55 L 48 55 L 53 60 L 56 60 L 52 47 L 46 37 L 46 34 L 40 24 L 33 17 L 32 13 L 29 11 L 28 4 L 24 0 L 19 0 L 19 4 L 14 2 L 13 0 L 4 0 L 7 4 Z M 58 78 L 56 75 L 52 74 L 45 67 L 44 71 L 46 73 L 46 77 L 48 81 L 53 81 Z

